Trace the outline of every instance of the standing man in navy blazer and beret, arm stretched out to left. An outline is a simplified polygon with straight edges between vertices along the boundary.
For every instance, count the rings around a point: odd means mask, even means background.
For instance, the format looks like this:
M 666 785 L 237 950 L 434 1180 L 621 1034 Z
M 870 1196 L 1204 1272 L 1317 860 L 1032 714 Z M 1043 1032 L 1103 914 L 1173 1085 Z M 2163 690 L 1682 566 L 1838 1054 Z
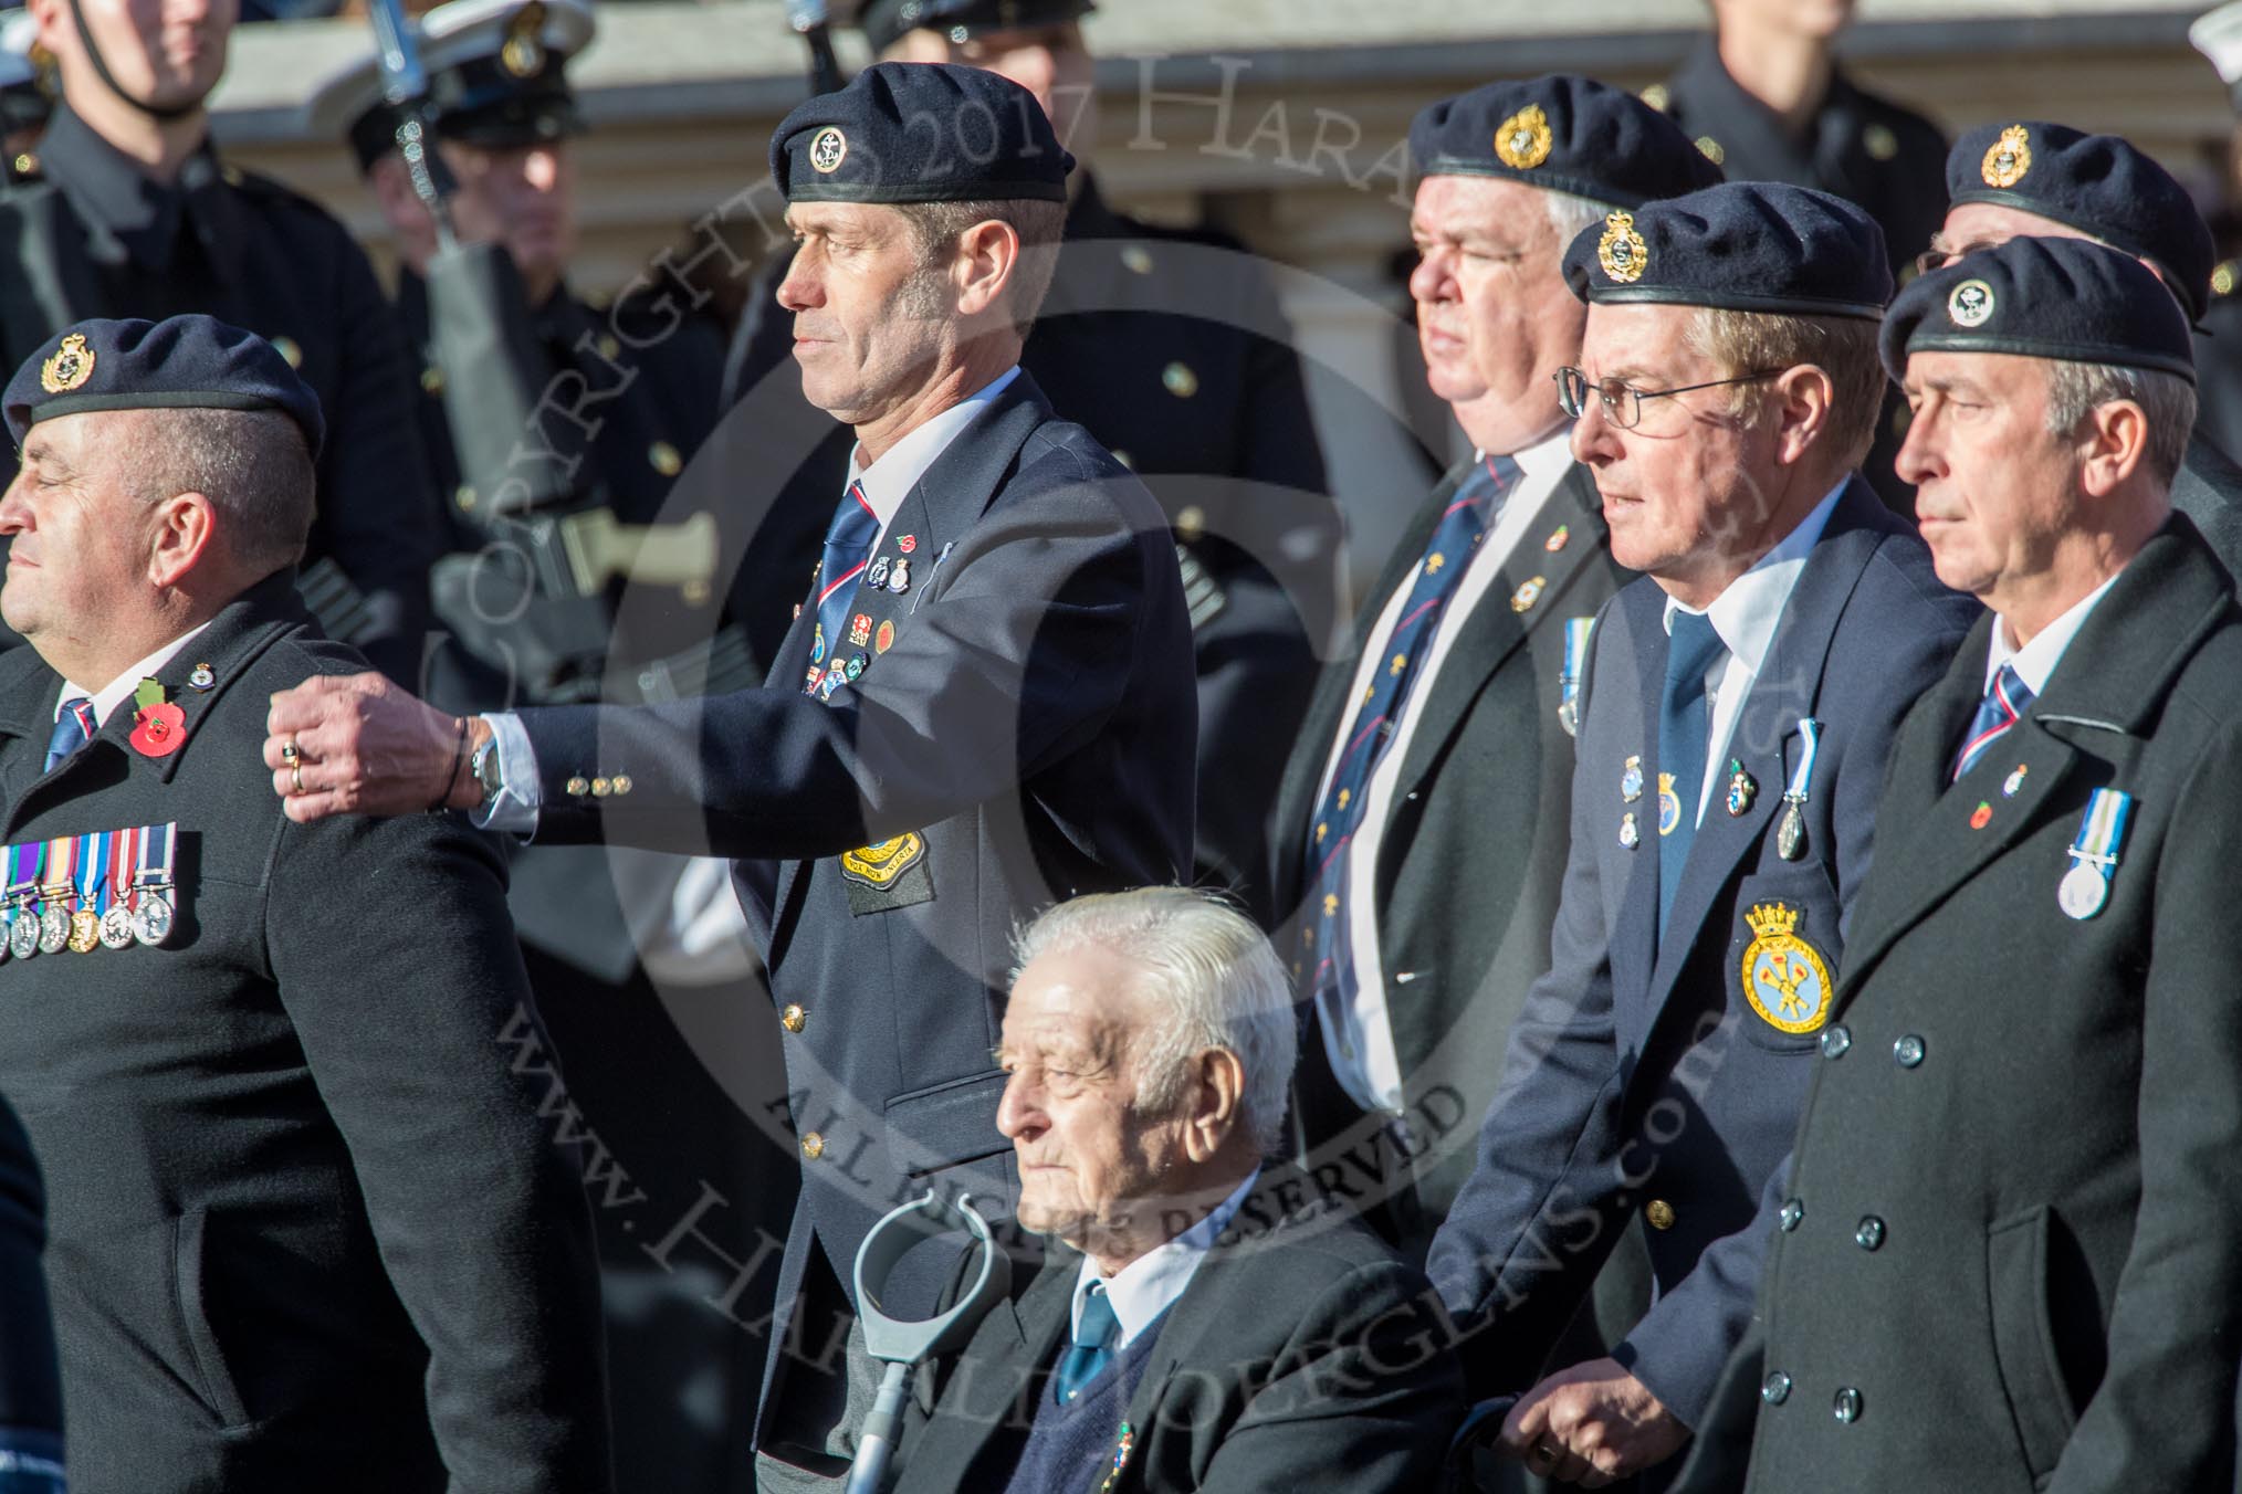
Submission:
M 881 63 L 773 134 L 796 361 L 856 457 L 765 688 L 457 721 L 356 676 L 271 715 L 294 818 L 446 802 L 543 840 L 738 858 L 803 1156 L 765 1487 L 843 1472 L 872 1384 L 845 1288 L 870 1225 L 928 1187 L 1013 1194 L 991 1048 L 1016 923 L 1191 865 L 1166 520 L 1018 372 L 1069 166 L 1027 90 L 973 67 Z M 946 1266 L 886 1306 L 930 1301 Z

